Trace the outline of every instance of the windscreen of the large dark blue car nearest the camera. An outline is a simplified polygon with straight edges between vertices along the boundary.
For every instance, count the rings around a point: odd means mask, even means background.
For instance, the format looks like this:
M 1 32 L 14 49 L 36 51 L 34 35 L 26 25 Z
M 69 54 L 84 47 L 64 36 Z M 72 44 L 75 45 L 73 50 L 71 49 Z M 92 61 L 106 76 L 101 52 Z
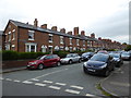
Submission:
M 106 62 L 108 60 L 108 56 L 106 54 L 94 54 L 91 58 L 91 61 L 102 61 L 102 62 Z

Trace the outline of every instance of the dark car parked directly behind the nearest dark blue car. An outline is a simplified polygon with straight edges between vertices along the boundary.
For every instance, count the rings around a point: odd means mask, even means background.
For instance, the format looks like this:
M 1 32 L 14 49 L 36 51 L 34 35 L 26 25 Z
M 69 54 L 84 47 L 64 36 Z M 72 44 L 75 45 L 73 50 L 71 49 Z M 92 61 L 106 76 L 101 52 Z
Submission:
M 119 68 L 121 64 L 123 64 L 123 60 L 121 58 L 121 53 L 109 53 L 109 54 L 114 58 L 116 66 Z

